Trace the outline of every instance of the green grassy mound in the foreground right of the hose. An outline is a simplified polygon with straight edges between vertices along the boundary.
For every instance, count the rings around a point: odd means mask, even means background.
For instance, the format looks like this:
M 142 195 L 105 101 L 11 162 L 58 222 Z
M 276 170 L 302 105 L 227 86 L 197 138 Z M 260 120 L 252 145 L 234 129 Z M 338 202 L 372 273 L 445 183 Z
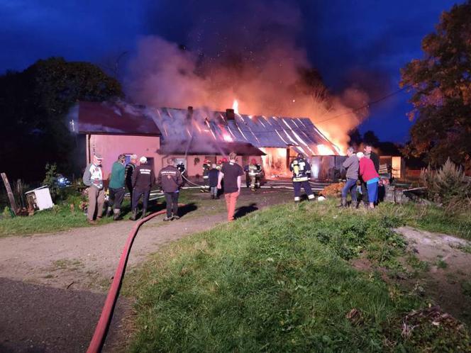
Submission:
M 471 349 L 469 332 L 421 323 L 419 296 L 348 262 L 396 269 L 405 244 L 379 212 L 332 202 L 273 206 L 165 247 L 126 277 L 133 352 L 382 352 Z M 355 215 L 361 214 L 360 218 Z M 422 266 L 421 264 L 417 265 Z M 426 339 L 423 339 L 426 337 Z

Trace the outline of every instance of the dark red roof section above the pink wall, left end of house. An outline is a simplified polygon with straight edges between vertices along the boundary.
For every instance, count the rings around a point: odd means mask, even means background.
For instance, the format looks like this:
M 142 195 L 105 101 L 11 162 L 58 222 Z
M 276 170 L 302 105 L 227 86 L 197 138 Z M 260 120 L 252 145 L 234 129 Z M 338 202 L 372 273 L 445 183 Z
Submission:
M 80 102 L 79 133 L 160 136 L 153 118 L 143 114 L 143 106 L 111 102 Z

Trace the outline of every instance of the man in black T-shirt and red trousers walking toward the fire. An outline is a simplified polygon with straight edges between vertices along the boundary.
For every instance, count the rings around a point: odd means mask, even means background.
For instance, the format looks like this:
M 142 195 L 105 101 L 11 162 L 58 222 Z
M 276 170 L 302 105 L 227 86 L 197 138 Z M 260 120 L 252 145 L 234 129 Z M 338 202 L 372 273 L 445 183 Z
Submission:
M 218 189 L 221 189 L 221 180 L 224 178 L 224 198 L 226 198 L 227 219 L 228 221 L 234 220 L 235 203 L 240 194 L 240 183 L 244 171 L 239 164 L 235 163 L 234 152 L 229 154 L 229 162 L 226 162 L 221 167 L 221 172 L 218 175 Z

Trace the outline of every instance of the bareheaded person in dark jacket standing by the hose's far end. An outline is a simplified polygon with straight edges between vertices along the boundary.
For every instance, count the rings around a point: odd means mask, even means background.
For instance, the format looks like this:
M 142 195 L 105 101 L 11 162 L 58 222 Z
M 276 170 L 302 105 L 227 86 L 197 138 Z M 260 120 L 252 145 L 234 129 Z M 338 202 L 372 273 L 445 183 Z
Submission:
M 167 167 L 160 169 L 157 177 L 157 186 L 164 192 L 165 202 L 167 203 L 165 221 L 179 219 L 178 196 L 182 184 L 182 174 L 178 168 L 174 166 L 174 159 L 167 159 Z

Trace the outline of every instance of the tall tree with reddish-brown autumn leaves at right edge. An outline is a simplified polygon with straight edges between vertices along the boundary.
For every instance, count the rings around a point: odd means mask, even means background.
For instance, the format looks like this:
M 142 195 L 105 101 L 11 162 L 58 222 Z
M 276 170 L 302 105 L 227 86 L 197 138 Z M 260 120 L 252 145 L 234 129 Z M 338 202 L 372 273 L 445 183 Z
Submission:
M 423 59 L 401 69 L 413 94 L 406 155 L 434 166 L 450 159 L 471 171 L 471 1 L 443 12 L 436 32 L 422 40 Z

